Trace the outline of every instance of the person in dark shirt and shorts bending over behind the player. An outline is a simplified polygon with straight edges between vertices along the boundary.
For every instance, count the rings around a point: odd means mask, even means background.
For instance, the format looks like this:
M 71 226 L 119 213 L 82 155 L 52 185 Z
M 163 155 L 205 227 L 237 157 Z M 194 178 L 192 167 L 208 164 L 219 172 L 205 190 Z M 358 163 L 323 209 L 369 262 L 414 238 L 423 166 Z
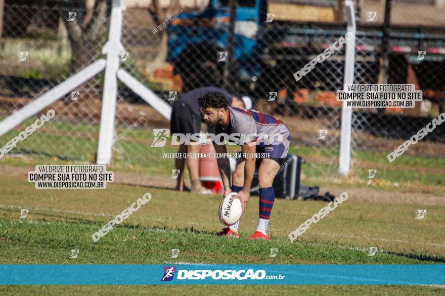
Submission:
M 202 97 L 208 92 L 220 92 L 229 102 L 229 105 L 234 107 L 244 108 L 245 104 L 243 100 L 237 97 L 233 97 L 227 91 L 216 87 L 201 87 L 194 89 L 182 96 L 180 100 L 173 103 L 171 112 L 170 130 L 172 134 L 196 134 L 201 131 L 202 114 L 198 104 L 198 98 Z M 178 153 L 198 153 L 199 145 L 186 145 L 181 144 Z M 181 154 L 184 155 L 184 154 Z M 202 194 L 210 193 L 205 189 L 201 181 L 199 180 L 199 159 L 189 158 L 187 159 L 187 166 L 190 172 L 190 181 L 192 188 L 189 189 L 184 185 L 184 167 L 186 159 L 183 157 L 176 158 L 174 162 L 175 169 L 179 169 L 180 173 L 176 179 L 176 190 L 179 191 L 193 191 Z

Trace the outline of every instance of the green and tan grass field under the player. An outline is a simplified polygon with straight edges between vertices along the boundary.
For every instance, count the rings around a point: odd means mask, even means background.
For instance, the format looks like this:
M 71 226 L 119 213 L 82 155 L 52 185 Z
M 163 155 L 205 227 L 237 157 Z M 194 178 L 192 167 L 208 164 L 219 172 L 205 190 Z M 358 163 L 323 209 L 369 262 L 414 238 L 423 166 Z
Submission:
M 50 127 L 45 127 L 50 128 Z M 57 126 L 54 129 L 60 128 Z M 71 127 L 75 134 L 76 127 Z M 91 129 L 91 132 L 94 128 Z M 43 131 L 43 130 L 42 130 Z M 15 134 L 0 138 L 6 143 Z M 56 139 L 57 138 L 57 139 Z M 388 164 L 382 153 L 355 152 L 349 178 L 336 173 L 336 151 L 294 146 L 291 153 L 307 159 L 303 183 L 321 186 L 349 198 L 293 244 L 288 234 L 310 218 L 324 202 L 276 199 L 269 232 L 272 241 L 248 241 L 258 218 L 258 197 L 251 196 L 241 219 L 241 238 L 219 238 L 222 228 L 218 195 L 172 190 L 173 160 L 149 149 L 150 130 L 134 130 L 117 143 L 113 164 L 115 182 L 106 190 L 36 190 L 27 171 L 37 164 L 75 164 L 92 161 L 96 143 L 35 133 L 9 155 L 0 158 L 1 264 L 443 264 L 445 263 L 445 158 L 404 155 Z M 74 140 L 73 140 L 74 139 Z M 141 139 L 144 139 L 141 141 Z M 74 141 L 74 142 L 70 142 Z M 47 143 L 47 144 L 44 144 Z M 50 144 L 52 143 L 52 144 Z M 55 146 L 54 143 L 63 143 Z M 85 143 L 85 144 L 84 144 Z M 48 145 L 48 147 L 46 146 Z M 62 147 L 62 148 L 60 148 Z M 76 154 L 56 157 L 64 148 Z M 44 151 L 38 155 L 33 151 Z M 92 154 L 93 151 L 93 154 Z M 24 156 L 13 157 L 13 153 Z M 371 182 L 368 169 L 378 173 Z M 186 175 L 188 181 L 188 175 Z M 394 184 L 397 185 L 394 185 Z M 152 200 L 97 243 L 91 235 L 146 192 Z M 20 223 L 20 209 L 29 209 Z M 416 209 L 427 218 L 416 220 Z M 30 223 L 31 222 L 31 223 Z M 378 247 L 368 256 L 369 247 Z M 276 258 L 270 249 L 278 248 Z M 70 259 L 70 250 L 79 256 Z M 171 249 L 180 249 L 176 259 Z M 430 286 L 236 286 L 225 294 L 443 294 Z M 209 294 L 220 286 L 1 286 L 7 294 Z

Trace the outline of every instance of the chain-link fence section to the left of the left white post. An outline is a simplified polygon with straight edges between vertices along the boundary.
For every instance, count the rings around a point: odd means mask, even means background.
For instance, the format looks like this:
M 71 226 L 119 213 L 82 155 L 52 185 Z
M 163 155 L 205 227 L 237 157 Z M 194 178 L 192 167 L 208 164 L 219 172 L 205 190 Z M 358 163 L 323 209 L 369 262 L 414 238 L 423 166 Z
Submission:
M 105 2 L 10 2 L 4 6 L 0 63 L 2 118 L 26 106 L 101 56 L 107 41 Z M 78 20 L 84 20 L 84 23 Z M 94 160 L 101 113 L 102 77 L 44 108 L 3 135 L 2 144 L 25 131 L 41 114 L 55 117 L 17 143 L 10 153 L 35 153 L 62 159 Z

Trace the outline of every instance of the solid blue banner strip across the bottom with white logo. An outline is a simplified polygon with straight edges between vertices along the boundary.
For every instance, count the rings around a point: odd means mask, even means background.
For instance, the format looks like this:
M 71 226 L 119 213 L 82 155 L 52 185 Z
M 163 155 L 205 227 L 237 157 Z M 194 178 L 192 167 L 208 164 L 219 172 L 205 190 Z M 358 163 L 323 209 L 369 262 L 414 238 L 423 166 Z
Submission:
M 445 265 L 0 265 L 0 284 L 445 285 Z

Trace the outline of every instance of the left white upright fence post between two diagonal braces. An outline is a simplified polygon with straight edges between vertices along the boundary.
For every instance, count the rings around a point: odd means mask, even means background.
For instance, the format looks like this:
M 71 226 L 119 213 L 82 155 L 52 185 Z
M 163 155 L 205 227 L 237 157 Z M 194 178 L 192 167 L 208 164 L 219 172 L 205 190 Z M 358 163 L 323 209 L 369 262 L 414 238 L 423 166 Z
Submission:
M 99 144 L 97 163 L 109 164 L 111 162 L 111 148 L 114 136 L 114 117 L 117 99 L 117 70 L 119 69 L 119 53 L 123 46 L 120 43 L 122 31 L 122 3 L 121 0 L 113 0 L 111 10 L 110 33 L 108 41 L 102 49 L 107 54 L 107 66 L 105 68 L 104 90 L 102 93 L 101 125 L 99 131 Z

